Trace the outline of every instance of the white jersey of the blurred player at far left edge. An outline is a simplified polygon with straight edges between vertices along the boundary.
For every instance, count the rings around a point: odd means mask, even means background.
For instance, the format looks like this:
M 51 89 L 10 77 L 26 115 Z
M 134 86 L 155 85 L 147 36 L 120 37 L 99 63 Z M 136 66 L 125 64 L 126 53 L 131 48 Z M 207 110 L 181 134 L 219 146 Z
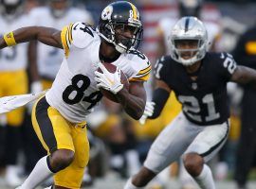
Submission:
M 27 14 L 20 15 L 13 21 L 8 21 L 0 16 L 0 36 L 20 27 L 31 26 L 31 20 Z M 17 71 L 27 69 L 27 43 L 21 43 L 0 51 L 0 72 Z

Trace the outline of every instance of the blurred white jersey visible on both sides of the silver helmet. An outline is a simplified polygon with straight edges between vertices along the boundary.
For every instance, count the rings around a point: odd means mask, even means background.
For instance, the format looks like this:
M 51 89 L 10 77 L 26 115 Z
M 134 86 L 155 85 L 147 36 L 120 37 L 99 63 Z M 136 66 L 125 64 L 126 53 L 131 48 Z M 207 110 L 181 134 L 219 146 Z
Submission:
M 170 55 L 171 45 L 169 41 L 169 36 L 173 26 L 176 24 L 177 20 L 174 18 L 163 18 L 159 21 L 159 29 L 163 33 L 164 43 L 166 47 L 166 52 Z M 221 27 L 213 22 L 208 22 L 203 20 L 204 25 L 208 31 L 208 40 L 212 44 L 214 39 L 220 35 Z

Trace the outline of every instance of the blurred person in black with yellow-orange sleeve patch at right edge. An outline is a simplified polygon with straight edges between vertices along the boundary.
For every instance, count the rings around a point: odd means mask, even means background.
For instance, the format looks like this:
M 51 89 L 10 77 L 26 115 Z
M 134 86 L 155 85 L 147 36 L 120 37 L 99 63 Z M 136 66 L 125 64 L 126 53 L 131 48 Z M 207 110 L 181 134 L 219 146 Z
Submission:
M 241 65 L 256 69 L 256 23 L 240 36 L 232 55 Z M 241 100 L 241 134 L 236 150 L 234 180 L 237 189 L 247 188 L 250 169 L 255 160 L 255 96 L 256 89 L 249 84 L 243 85 Z M 234 92 L 237 94 L 237 90 Z

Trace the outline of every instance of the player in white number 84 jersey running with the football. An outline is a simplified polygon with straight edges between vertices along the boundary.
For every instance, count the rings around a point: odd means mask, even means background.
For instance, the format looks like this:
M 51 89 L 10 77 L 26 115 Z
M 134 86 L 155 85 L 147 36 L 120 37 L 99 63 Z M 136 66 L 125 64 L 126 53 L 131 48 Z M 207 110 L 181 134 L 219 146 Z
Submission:
M 127 2 L 110 4 L 101 13 L 94 30 L 84 23 L 51 27 L 31 26 L 17 29 L 0 39 L 0 48 L 37 40 L 64 49 L 64 60 L 46 96 L 32 111 L 33 127 L 48 152 L 35 165 L 19 187 L 32 189 L 54 175 L 54 188 L 80 188 L 89 159 L 85 117 L 101 100 L 99 88 L 116 95 L 134 119 L 144 112 L 151 64 L 137 51 L 142 24 L 137 8 Z M 101 62 L 118 66 L 109 73 Z M 98 72 L 101 68 L 103 73 Z M 120 82 L 120 70 L 129 78 L 129 90 Z

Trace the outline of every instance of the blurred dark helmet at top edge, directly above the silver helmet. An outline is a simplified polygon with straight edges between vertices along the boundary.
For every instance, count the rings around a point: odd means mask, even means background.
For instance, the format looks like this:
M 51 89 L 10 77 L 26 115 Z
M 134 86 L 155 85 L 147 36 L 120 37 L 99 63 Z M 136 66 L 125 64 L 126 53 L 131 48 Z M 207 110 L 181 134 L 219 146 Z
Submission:
M 194 16 L 199 18 L 202 9 L 202 0 L 179 0 L 178 9 L 180 17 Z

